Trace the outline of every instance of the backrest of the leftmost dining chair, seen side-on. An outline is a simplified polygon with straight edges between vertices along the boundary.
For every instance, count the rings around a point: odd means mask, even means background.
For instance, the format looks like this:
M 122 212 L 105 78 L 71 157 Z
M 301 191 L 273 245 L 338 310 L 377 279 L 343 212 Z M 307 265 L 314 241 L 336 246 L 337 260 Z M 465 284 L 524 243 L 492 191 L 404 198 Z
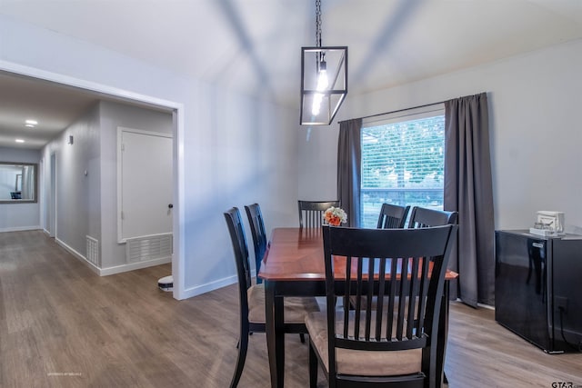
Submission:
M 226 225 L 233 245 L 236 262 L 236 275 L 238 276 L 238 289 L 241 311 L 248 314 L 248 300 L 246 290 L 251 286 L 251 269 L 248 264 L 248 248 L 246 246 L 245 227 L 237 207 L 225 212 Z

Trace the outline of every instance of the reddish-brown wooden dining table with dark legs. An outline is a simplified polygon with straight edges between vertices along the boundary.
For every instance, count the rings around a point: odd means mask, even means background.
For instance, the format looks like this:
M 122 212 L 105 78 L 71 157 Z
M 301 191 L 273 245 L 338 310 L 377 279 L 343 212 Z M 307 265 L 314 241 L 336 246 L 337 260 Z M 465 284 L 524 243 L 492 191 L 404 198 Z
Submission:
M 276 228 L 273 230 L 258 276 L 265 283 L 266 344 L 271 387 L 285 381 L 285 330 L 283 298 L 286 296 L 324 296 L 326 270 L 320 228 Z M 437 375 L 444 378 L 448 331 L 448 289 L 458 274 L 447 271 L 445 293 L 440 303 L 437 333 Z

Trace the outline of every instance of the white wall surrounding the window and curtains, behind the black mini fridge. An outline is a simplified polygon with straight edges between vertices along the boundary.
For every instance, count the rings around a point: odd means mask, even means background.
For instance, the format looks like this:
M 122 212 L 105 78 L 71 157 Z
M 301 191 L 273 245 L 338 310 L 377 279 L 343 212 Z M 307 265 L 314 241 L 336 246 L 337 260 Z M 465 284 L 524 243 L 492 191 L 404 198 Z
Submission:
M 582 40 L 369 95 L 347 95 L 337 121 L 487 92 L 497 229 L 531 226 L 537 210 L 582 225 Z M 335 194 L 338 124 L 299 139 L 299 194 Z M 333 183 L 329 177 L 333 177 Z M 330 193 L 330 187 L 333 192 Z M 577 229 L 578 228 L 578 229 Z

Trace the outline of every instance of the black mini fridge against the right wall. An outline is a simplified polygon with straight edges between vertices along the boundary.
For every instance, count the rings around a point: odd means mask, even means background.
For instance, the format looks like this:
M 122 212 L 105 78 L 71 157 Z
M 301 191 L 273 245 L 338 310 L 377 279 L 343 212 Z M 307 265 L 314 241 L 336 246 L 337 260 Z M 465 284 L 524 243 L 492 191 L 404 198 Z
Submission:
M 496 232 L 495 317 L 547 353 L 582 346 L 582 236 Z

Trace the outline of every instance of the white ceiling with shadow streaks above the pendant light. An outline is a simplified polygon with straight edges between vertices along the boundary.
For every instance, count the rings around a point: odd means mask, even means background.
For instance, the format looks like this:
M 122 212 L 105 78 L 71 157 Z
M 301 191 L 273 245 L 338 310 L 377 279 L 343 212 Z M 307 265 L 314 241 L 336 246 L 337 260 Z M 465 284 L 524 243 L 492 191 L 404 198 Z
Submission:
M 316 44 L 315 0 L 2 0 L 0 14 L 297 109 L 300 47 Z M 322 38 L 349 47 L 349 98 L 582 38 L 582 0 L 322 0 Z M 24 128 L 15 114 L 58 131 L 90 104 L 69 88 L 41 108 L 36 86 L 0 76 L 0 146 Z

